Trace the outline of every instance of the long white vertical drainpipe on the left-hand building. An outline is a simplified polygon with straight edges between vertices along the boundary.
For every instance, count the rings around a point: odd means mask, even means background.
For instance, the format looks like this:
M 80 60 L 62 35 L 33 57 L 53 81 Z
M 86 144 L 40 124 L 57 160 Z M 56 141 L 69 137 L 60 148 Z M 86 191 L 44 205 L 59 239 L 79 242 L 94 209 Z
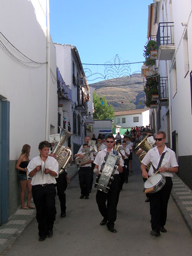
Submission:
M 49 132 L 49 88 L 50 88 L 50 23 L 49 23 L 49 0 L 47 0 L 47 84 L 46 84 L 46 116 L 45 116 L 45 139 L 48 140 Z

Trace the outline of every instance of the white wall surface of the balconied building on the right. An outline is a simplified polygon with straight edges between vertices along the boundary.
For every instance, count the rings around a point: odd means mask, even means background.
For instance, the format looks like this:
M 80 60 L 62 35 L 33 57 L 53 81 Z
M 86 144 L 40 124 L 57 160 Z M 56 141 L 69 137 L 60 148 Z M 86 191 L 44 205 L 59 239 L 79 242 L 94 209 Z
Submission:
M 169 72 L 167 76 L 170 76 L 170 86 L 171 86 L 171 111 L 172 111 L 172 131 L 178 133 L 178 155 L 191 155 L 192 149 L 190 143 L 188 143 L 188 132 L 184 132 L 186 127 L 192 126 L 191 118 L 191 91 L 190 91 L 190 71 L 192 70 L 192 20 L 191 16 L 191 1 L 186 0 L 185 4 L 182 1 L 172 0 L 172 5 L 169 5 L 167 1 L 167 16 L 166 16 L 166 4 L 161 1 L 161 5 L 164 5 L 164 15 L 166 17 L 165 21 L 174 21 L 174 41 L 175 41 L 175 54 L 172 60 L 168 61 Z M 172 6 L 172 10 L 170 7 Z M 171 17 L 172 14 L 172 17 Z M 173 20 L 172 20 L 173 19 Z M 187 22 L 187 27 L 182 26 L 182 22 Z M 184 52 L 186 51 L 186 46 L 184 45 L 184 35 L 187 31 L 188 35 L 188 61 L 189 61 L 189 71 L 186 75 Z M 176 76 L 172 69 L 172 65 L 176 63 Z M 164 76 L 167 69 L 166 62 L 159 62 L 160 76 Z M 175 79 L 173 79 L 173 76 Z M 175 81 L 177 82 L 177 91 L 175 94 Z M 166 113 L 169 107 L 161 108 L 161 129 L 168 132 L 168 119 Z

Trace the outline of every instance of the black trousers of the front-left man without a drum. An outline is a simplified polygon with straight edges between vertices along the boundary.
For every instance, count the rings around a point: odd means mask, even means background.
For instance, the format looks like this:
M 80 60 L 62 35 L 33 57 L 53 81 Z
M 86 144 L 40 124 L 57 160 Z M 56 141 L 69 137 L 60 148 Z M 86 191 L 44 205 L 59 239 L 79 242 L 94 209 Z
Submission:
M 32 186 L 33 202 L 36 207 L 39 236 L 46 237 L 48 230 L 52 230 L 55 221 L 56 189 L 54 184 Z

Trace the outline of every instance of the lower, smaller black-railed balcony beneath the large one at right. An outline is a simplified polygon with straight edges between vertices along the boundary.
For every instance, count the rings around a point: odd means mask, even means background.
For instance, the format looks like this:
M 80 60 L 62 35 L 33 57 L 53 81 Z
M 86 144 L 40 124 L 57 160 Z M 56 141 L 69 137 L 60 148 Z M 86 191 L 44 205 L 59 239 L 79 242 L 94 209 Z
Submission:
M 168 106 L 168 77 L 160 77 L 158 84 L 159 106 Z

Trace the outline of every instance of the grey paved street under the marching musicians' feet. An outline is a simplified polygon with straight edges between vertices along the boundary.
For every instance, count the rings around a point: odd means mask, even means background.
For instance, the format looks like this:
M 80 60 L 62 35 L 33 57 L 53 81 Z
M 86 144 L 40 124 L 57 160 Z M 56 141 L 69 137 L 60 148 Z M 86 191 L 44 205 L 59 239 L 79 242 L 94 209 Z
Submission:
M 192 255 L 192 239 L 174 201 L 170 198 L 167 233 L 159 238 L 150 236 L 149 203 L 145 203 L 143 179 L 134 156 L 134 172 L 120 193 L 117 221 L 118 233 L 100 226 L 93 189 L 89 200 L 80 200 L 78 176 L 67 189 L 67 216 L 60 218 L 57 197 L 57 216 L 54 236 L 38 241 L 34 220 L 22 231 L 5 255 Z

